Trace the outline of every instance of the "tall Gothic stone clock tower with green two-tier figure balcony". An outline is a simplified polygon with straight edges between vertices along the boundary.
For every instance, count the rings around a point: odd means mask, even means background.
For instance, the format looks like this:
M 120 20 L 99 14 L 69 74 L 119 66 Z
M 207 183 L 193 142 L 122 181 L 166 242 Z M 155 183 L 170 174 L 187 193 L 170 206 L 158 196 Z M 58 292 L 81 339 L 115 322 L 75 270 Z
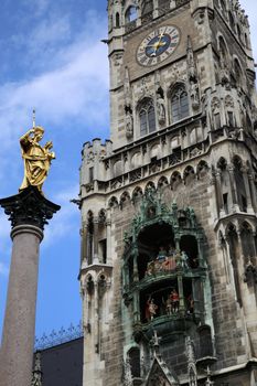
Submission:
M 237 0 L 109 0 L 83 148 L 84 386 L 257 382 L 257 104 Z

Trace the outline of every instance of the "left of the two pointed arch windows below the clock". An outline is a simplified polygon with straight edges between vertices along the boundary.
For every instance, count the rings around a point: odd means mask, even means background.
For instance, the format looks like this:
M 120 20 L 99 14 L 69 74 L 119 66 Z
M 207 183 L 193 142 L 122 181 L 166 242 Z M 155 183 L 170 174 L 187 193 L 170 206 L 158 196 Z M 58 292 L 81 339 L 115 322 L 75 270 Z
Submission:
M 156 131 L 156 111 L 152 99 L 147 99 L 139 110 L 140 136 Z

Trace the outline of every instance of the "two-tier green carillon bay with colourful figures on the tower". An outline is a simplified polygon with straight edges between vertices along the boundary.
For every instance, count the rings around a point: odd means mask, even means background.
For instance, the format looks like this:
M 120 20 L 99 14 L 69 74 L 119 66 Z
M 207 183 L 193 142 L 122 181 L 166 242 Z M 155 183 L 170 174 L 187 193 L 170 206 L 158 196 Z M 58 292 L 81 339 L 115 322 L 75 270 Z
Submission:
M 204 322 L 203 232 L 192 207 L 165 205 L 149 189 L 126 234 L 124 300 L 135 339 L 165 336 Z

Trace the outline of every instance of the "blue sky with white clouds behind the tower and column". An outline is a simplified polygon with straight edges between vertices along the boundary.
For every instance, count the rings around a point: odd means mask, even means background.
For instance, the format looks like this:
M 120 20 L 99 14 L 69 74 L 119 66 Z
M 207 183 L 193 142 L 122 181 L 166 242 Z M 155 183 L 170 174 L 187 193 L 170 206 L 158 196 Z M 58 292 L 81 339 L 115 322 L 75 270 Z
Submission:
M 62 205 L 41 245 L 36 335 L 78 323 L 81 150 L 108 138 L 106 0 L 1 0 L 0 196 L 15 194 L 23 176 L 19 138 L 36 122 L 52 139 L 56 160 L 44 185 Z M 256 0 L 242 0 L 257 36 Z M 257 41 L 253 42 L 257 61 Z M 0 330 L 11 254 L 10 224 L 0 212 Z

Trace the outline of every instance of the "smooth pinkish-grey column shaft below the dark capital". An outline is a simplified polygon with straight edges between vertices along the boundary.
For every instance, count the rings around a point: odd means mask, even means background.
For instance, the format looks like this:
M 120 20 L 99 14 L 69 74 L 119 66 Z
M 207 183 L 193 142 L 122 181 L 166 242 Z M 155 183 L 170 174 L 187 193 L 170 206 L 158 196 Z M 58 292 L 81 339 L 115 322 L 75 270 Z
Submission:
M 43 233 L 32 225 L 19 225 L 13 228 L 12 238 L 0 355 L 0 385 L 29 386 L 32 378 L 35 335 L 39 246 Z

